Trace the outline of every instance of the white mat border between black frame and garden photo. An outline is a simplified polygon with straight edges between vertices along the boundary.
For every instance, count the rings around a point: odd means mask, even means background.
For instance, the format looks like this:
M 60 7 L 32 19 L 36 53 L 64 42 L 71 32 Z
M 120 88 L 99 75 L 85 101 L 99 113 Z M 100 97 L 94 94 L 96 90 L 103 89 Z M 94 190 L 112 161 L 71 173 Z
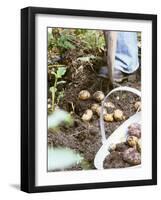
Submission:
M 152 178 L 152 22 L 144 20 L 72 17 L 36 14 L 35 17 L 35 185 L 64 185 Z M 47 27 L 124 30 L 142 32 L 142 166 L 47 172 Z M 42 148 L 43 147 L 43 148 Z

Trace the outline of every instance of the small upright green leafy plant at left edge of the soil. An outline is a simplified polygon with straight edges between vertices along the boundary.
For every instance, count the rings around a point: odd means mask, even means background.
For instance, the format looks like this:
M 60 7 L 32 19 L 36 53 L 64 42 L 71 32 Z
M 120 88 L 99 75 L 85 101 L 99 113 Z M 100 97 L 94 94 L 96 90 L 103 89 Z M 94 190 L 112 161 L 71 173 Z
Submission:
M 61 79 L 65 73 L 66 73 L 66 67 L 59 67 L 56 72 L 53 72 L 53 74 L 55 76 L 55 81 L 54 81 L 54 86 L 52 86 L 50 88 L 51 93 L 52 93 L 52 108 L 51 108 L 52 111 L 54 111 L 54 109 L 55 109 L 55 95 L 57 92 L 57 86 L 59 84 L 65 83 L 65 81 L 63 81 L 63 80 L 61 80 L 61 81 L 58 81 L 58 80 Z M 63 95 L 64 95 L 63 92 L 62 93 L 59 92 L 58 97 L 60 98 Z

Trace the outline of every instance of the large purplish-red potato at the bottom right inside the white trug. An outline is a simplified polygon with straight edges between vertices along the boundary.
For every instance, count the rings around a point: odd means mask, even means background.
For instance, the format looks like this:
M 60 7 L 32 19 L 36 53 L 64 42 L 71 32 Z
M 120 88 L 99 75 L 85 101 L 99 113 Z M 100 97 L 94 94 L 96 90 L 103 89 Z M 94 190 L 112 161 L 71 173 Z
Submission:
M 123 160 L 131 165 L 139 165 L 141 163 L 141 155 L 135 148 L 129 148 L 123 152 Z

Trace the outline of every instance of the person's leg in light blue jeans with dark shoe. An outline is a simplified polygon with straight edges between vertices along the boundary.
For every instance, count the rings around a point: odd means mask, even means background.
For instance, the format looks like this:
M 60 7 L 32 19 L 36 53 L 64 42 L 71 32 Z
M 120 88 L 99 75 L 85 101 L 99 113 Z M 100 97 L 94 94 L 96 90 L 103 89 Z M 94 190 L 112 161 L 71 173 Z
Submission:
M 105 31 L 106 47 L 108 45 L 109 32 Z M 108 52 L 113 50 L 108 49 Z M 113 57 L 113 56 L 112 56 Z M 106 55 L 107 65 L 109 65 L 109 56 Z M 112 60 L 112 59 L 111 59 Z M 138 61 L 138 46 L 137 46 L 137 33 L 136 32 L 117 32 L 117 45 L 115 49 L 115 59 L 113 60 L 113 66 L 102 66 L 99 70 L 99 77 L 110 79 L 110 68 L 113 69 L 113 80 L 115 82 L 122 82 L 127 79 L 128 74 L 135 72 L 139 67 Z

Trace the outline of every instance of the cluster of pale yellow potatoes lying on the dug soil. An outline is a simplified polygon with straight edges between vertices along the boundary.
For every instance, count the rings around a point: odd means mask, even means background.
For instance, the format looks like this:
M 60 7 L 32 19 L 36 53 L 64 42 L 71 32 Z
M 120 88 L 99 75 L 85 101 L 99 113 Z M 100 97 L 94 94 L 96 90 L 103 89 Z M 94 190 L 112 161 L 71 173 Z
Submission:
M 88 90 L 80 91 L 78 98 L 82 101 L 93 98 L 96 103 L 92 104 L 90 109 L 87 109 L 82 115 L 83 121 L 90 121 L 94 114 L 100 116 L 101 114 L 101 102 L 104 100 L 105 95 L 102 91 L 97 91 L 93 95 L 89 93 Z M 125 119 L 124 113 L 120 109 L 116 109 L 112 102 L 107 102 L 104 105 L 103 117 L 106 122 L 122 121 Z M 108 112 L 111 110 L 112 112 Z

